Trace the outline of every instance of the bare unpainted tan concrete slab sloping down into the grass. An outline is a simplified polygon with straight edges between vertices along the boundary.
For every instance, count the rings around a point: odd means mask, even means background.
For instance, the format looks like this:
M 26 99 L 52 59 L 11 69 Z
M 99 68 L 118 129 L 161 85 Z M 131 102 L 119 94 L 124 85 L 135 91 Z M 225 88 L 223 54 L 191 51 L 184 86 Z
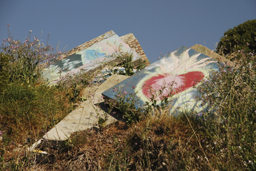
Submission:
M 70 112 L 60 123 L 56 124 L 56 126 L 48 131 L 43 138 L 48 140 L 67 140 L 71 133 L 95 126 L 98 122 L 98 115 L 103 115 L 104 112 L 108 110 L 104 107 L 101 93 L 126 78 L 129 78 L 129 76 L 112 75 L 101 85 L 84 89 L 84 96 L 86 96 L 88 100 L 83 101 L 79 107 Z M 106 124 L 113 123 L 117 121 L 116 119 L 118 119 L 118 114 L 113 116 L 109 115 Z

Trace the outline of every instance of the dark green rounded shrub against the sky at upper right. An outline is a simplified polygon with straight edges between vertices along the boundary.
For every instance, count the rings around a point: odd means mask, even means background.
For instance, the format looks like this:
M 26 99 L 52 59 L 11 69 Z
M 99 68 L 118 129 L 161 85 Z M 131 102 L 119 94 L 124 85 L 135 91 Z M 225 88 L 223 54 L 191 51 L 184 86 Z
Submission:
M 224 36 L 220 38 L 217 53 L 226 56 L 238 50 L 253 53 L 256 51 L 256 19 L 248 20 L 239 24 L 233 29 L 228 29 Z

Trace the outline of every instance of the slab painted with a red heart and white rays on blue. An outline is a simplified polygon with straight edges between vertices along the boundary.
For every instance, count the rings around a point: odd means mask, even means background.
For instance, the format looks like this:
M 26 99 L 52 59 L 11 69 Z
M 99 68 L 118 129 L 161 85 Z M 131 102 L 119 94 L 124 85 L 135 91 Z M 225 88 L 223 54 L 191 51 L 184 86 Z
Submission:
M 116 99 L 118 93 L 124 93 L 127 99 L 129 93 L 133 93 L 138 100 L 136 107 L 145 106 L 150 101 L 152 94 L 155 95 L 157 105 L 161 103 L 163 96 L 168 96 L 170 101 L 170 113 L 178 110 L 202 110 L 202 101 L 196 100 L 197 93 L 193 87 L 198 87 L 205 80 L 211 70 L 219 70 L 218 61 L 205 56 L 188 47 L 180 47 L 155 63 L 147 66 L 132 77 L 127 78 L 120 84 L 116 84 L 102 93 L 106 98 Z M 151 88 L 150 88 L 151 87 Z M 163 96 L 156 96 L 160 89 L 163 89 Z M 150 93 L 150 89 L 152 90 Z

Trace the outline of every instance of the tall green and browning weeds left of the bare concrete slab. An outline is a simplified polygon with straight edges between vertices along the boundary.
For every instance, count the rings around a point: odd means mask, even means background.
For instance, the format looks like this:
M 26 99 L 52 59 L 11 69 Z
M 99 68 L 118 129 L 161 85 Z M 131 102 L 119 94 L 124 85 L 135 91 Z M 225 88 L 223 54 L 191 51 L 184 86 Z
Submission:
M 28 165 L 22 157 L 24 149 L 72 110 L 65 93 L 42 81 L 42 70 L 57 54 L 51 45 L 45 46 L 36 37 L 31 40 L 30 33 L 21 42 L 13 40 L 9 31 L 0 52 L 1 166 L 8 163 L 13 170 Z

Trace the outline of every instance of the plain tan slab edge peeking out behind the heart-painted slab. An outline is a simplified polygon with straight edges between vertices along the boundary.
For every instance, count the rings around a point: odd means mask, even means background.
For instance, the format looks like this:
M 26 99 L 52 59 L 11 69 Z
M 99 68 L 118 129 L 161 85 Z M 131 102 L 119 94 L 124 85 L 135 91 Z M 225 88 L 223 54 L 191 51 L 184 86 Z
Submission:
M 229 66 L 234 66 L 234 64 L 230 60 L 228 60 L 223 56 L 220 56 L 219 54 L 215 53 L 213 50 L 207 47 L 204 47 L 203 45 L 196 44 L 196 45 L 193 45 L 193 47 L 191 48 L 196 50 L 197 52 L 204 54 L 205 56 L 209 56 L 213 59 L 216 59 L 220 63 L 227 63 Z

